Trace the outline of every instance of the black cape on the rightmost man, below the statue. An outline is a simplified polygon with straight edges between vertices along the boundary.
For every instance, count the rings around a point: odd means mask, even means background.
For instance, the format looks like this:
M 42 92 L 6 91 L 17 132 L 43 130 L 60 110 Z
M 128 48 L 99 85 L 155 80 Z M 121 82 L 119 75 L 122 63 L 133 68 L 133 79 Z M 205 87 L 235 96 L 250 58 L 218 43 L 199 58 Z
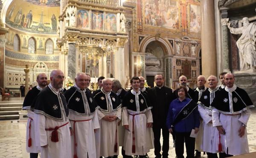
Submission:
M 211 106 L 216 108 L 220 113 L 224 114 L 239 114 L 247 108 L 254 107 L 253 102 L 245 90 L 234 86 L 232 92 L 221 89 L 216 94 Z M 232 94 L 232 100 L 229 99 L 229 93 Z

